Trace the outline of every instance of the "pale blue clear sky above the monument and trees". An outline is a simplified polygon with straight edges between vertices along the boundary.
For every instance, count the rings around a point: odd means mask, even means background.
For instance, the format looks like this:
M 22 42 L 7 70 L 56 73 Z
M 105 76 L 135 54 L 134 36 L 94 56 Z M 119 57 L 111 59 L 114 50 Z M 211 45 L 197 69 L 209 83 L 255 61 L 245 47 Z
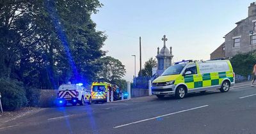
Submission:
M 108 36 L 102 50 L 125 65 L 125 80 L 136 76 L 157 47 L 172 46 L 173 62 L 182 59 L 210 59 L 210 54 L 225 40 L 223 36 L 248 16 L 249 0 L 99 0 L 104 4 L 92 20 L 97 31 Z

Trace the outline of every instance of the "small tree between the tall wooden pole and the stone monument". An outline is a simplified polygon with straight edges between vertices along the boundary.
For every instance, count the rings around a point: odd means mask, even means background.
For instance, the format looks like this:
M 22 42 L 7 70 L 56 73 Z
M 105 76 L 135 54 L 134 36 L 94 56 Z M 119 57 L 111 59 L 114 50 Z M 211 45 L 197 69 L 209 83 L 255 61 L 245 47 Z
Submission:
M 156 59 L 153 59 L 153 57 L 150 57 L 148 61 L 145 62 L 144 68 L 141 70 L 141 76 L 150 76 L 152 77 L 152 68 L 157 66 Z M 140 72 L 139 72 L 140 75 Z

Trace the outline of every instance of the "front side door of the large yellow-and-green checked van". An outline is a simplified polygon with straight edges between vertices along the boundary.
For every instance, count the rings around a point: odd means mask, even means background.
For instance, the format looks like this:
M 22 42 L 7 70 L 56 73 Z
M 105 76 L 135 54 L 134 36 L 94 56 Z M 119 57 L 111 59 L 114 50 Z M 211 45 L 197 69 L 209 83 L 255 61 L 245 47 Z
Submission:
M 184 71 L 184 82 L 188 86 L 188 89 L 195 89 L 203 86 L 202 75 L 198 73 L 196 63 L 187 66 Z

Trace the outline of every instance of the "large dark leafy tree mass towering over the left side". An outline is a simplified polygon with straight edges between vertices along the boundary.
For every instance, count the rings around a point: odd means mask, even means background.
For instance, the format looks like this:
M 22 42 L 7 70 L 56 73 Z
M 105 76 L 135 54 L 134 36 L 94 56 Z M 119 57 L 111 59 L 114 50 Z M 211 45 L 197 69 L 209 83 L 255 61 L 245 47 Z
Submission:
M 106 35 L 91 15 L 101 6 L 98 0 L 1 1 L 0 78 L 40 89 L 95 79 Z

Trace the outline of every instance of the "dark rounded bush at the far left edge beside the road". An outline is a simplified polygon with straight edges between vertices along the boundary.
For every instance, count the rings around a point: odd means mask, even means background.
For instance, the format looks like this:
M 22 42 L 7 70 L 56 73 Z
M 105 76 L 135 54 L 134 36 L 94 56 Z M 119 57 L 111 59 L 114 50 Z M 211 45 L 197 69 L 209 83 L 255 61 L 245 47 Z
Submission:
M 4 110 L 15 110 L 27 105 L 26 93 L 22 82 L 1 78 L 0 92 Z

